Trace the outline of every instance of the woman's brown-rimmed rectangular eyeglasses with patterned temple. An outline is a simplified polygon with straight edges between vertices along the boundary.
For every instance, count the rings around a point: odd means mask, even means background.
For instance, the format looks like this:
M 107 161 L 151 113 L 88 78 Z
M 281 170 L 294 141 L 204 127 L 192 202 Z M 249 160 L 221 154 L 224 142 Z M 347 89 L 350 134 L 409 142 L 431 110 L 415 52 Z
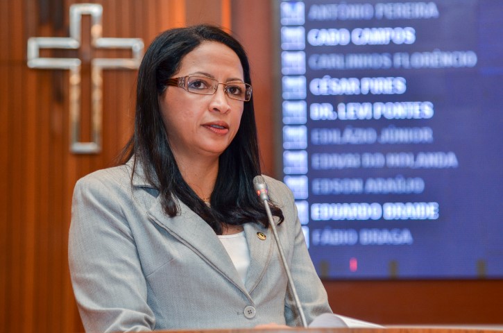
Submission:
M 219 83 L 214 78 L 208 78 L 207 76 L 189 75 L 180 78 L 170 78 L 166 84 L 183 88 L 187 92 L 202 95 L 212 95 L 219 88 L 219 85 L 223 85 L 223 91 L 230 99 L 245 102 L 251 99 L 251 85 L 241 81 Z

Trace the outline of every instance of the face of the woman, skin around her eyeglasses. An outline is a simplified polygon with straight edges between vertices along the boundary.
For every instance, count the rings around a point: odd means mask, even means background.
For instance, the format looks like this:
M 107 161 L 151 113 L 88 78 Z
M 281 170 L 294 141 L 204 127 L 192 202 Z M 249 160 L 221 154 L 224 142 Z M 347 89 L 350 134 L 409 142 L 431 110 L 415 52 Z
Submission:
M 203 42 L 187 53 L 173 77 L 198 75 L 219 83 L 244 82 L 237 54 L 219 42 Z M 234 139 L 244 102 L 230 99 L 219 85 L 213 95 L 168 86 L 160 96 L 160 110 L 173 154 L 179 160 L 219 156 Z

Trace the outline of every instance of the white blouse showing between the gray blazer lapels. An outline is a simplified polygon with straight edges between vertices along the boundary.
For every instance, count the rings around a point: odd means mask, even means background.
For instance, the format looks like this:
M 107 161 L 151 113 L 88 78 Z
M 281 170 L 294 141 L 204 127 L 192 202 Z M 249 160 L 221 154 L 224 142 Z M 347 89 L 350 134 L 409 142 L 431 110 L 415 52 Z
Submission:
M 221 234 L 219 239 L 225 250 L 227 250 L 234 266 L 236 266 L 241 280 L 246 283 L 246 272 L 250 266 L 250 251 L 248 250 L 244 231 L 237 234 Z

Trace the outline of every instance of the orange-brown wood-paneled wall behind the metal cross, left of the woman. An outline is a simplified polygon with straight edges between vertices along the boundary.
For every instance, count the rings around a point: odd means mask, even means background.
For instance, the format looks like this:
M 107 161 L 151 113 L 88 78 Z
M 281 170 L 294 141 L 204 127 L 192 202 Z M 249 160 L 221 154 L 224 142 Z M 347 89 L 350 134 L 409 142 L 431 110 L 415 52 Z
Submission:
M 136 71 L 103 71 L 103 152 L 69 153 L 69 75 L 28 69 L 28 37 L 68 37 L 72 3 L 103 5 L 104 37 L 140 37 L 146 46 L 175 26 L 228 25 L 228 0 L 2 0 L 0 1 L 0 332 L 80 332 L 67 263 L 71 196 L 78 178 L 114 164 L 132 132 Z M 205 15 L 201 15 L 203 12 Z M 225 14 L 227 13 L 227 15 Z M 83 60 L 83 140 L 89 139 L 93 56 L 130 57 L 93 50 L 83 17 L 78 51 L 42 56 Z

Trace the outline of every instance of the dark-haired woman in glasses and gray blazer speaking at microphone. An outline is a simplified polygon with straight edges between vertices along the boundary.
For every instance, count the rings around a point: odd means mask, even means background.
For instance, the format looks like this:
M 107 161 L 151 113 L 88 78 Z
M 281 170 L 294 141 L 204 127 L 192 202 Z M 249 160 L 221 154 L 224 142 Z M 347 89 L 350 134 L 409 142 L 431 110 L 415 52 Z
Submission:
M 250 69 L 212 26 L 159 35 L 119 167 L 79 180 L 69 238 L 85 329 L 300 325 L 264 207 Z M 291 191 L 266 178 L 307 321 L 331 312 Z

